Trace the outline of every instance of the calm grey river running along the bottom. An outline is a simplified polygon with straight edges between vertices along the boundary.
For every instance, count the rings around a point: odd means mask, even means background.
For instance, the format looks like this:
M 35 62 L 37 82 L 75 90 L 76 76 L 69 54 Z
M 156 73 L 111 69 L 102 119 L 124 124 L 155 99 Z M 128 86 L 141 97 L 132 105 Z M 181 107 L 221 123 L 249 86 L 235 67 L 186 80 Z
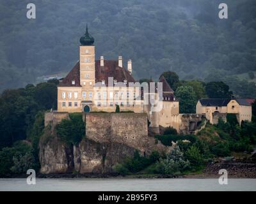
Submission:
M 256 191 L 256 179 L 0 179 L 0 191 Z

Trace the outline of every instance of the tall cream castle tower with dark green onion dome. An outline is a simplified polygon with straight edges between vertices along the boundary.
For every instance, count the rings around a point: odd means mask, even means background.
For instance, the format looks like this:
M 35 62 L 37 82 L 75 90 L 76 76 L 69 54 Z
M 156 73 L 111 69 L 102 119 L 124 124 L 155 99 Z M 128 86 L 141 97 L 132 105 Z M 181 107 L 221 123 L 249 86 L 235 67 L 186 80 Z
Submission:
M 86 33 L 80 38 L 79 59 L 80 59 L 80 84 L 82 92 L 86 97 L 83 100 L 93 101 L 90 92 L 93 93 L 93 85 L 95 85 L 95 46 L 94 38 L 88 33 L 86 24 Z

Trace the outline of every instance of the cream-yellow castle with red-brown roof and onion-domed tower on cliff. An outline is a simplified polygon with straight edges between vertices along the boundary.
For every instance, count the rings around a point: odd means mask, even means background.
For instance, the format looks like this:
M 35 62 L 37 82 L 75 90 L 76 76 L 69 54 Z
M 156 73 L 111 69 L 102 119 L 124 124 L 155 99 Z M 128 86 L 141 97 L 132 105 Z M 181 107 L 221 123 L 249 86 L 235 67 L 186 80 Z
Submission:
M 147 113 L 152 128 L 179 129 L 179 101 L 163 76 L 157 86 L 152 79 L 141 85 L 132 77 L 131 59 L 127 69 L 121 56 L 95 60 L 87 25 L 80 43 L 79 61 L 58 85 L 58 112 L 115 112 L 118 105 L 121 112 Z

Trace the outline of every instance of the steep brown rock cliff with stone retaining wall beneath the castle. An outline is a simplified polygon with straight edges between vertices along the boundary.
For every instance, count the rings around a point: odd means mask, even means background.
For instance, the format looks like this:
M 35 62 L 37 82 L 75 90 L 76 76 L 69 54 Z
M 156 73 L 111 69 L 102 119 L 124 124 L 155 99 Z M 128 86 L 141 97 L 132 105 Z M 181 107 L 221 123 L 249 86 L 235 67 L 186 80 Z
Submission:
M 90 113 L 85 117 L 86 137 L 78 145 L 67 145 L 55 133 L 59 120 L 54 124 L 52 113 L 40 138 L 40 172 L 111 173 L 114 164 L 132 157 L 135 150 L 142 155 L 170 150 L 147 135 L 147 115 L 134 114 Z

